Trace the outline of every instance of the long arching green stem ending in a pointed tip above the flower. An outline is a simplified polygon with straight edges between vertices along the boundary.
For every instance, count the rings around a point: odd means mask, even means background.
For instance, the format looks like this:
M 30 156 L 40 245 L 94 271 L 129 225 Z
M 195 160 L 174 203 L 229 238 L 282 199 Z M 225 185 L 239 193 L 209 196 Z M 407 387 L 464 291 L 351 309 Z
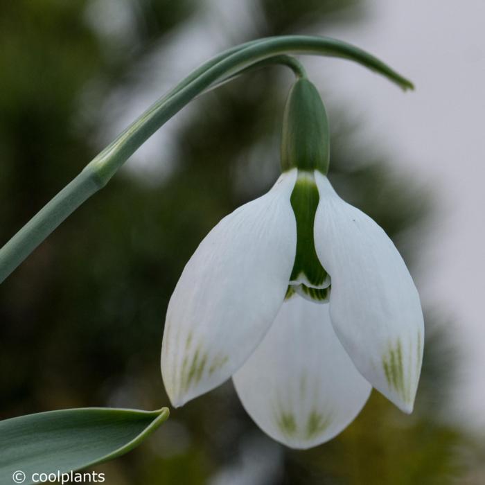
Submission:
M 104 187 L 125 161 L 166 121 L 215 82 L 231 78 L 265 60 L 288 53 L 327 55 L 353 60 L 403 89 L 412 83 L 360 48 L 326 37 L 288 35 L 267 37 L 221 53 L 179 83 L 143 113 L 96 156 L 78 177 L 56 195 L 0 249 L 0 283 L 91 195 Z M 287 58 L 285 58 L 287 59 Z M 288 62 L 284 62 L 288 65 Z M 291 67 L 291 66 L 290 66 Z

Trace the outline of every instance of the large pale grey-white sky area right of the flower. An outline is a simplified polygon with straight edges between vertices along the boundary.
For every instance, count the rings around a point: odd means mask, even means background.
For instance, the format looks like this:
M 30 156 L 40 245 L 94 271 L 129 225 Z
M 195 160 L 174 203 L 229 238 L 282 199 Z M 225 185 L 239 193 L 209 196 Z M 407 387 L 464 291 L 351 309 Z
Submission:
M 338 61 L 330 61 L 325 80 L 358 109 L 370 139 L 385 143 L 438 199 L 416 283 L 423 300 L 456 319 L 462 368 L 455 407 L 469 425 L 485 427 L 485 1 L 368 4 L 357 28 L 326 35 L 376 54 L 411 78 L 416 91 L 403 94 Z

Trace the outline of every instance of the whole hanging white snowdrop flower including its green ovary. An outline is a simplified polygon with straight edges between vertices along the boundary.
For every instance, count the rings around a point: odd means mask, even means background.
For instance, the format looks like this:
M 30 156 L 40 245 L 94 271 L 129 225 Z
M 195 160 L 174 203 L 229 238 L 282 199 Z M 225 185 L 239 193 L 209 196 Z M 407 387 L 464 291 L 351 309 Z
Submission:
M 243 406 L 292 448 L 328 441 L 375 387 L 412 412 L 418 292 L 396 247 L 326 173 L 328 124 L 307 80 L 290 92 L 283 175 L 223 218 L 168 304 L 161 369 L 174 406 L 232 376 Z

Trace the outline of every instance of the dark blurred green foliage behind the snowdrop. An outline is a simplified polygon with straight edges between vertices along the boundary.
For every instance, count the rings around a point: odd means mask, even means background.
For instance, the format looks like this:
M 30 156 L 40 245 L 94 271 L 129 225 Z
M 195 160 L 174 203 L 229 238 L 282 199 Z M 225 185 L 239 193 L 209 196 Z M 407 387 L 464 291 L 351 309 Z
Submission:
M 322 33 L 333 19 L 358 21 L 364 11 L 358 0 L 252 5 L 252 37 Z M 208 8 L 217 10 L 218 3 L 0 3 L 0 243 L 103 148 L 96 144 L 103 105 L 80 122 L 86 90 L 96 87 L 98 100 L 115 89 L 138 96 L 143 83 L 132 76 L 136 66 L 163 53 L 164 39 Z M 87 12 L 109 17 L 119 9 L 131 29 L 128 41 L 104 35 L 87 20 Z M 99 20 L 103 25 L 109 18 Z M 220 39 L 211 30 L 206 35 Z M 247 40 L 235 37 L 226 45 Z M 209 229 L 278 175 L 285 76 L 276 68 L 258 71 L 197 100 L 174 134 L 175 168 L 168 175 L 148 183 L 123 171 L 3 283 L 2 418 L 61 407 L 168 404 L 159 352 L 170 293 Z M 345 126 L 345 119 L 333 125 Z M 333 134 L 330 175 L 346 200 L 401 243 L 412 263 L 414 247 L 401 236 L 416 236 L 430 198 L 412 179 L 398 179 L 378 149 L 349 143 L 355 129 Z M 159 161 L 168 161 L 164 152 Z M 428 315 L 428 330 L 441 319 Z M 118 485 L 482 483 L 473 468 L 477 448 L 441 420 L 455 365 L 451 337 L 442 330 L 428 335 L 412 416 L 374 392 L 337 439 L 293 452 L 258 430 L 228 383 L 175 410 L 148 443 L 103 470 Z

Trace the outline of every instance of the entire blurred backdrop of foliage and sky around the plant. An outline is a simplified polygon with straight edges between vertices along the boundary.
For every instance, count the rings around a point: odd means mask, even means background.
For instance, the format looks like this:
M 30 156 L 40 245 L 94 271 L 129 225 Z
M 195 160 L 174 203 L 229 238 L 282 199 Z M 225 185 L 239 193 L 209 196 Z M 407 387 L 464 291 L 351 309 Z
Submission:
M 480 0 L 3 0 L 0 244 L 118 132 L 218 51 L 283 33 L 358 44 L 416 82 L 403 94 L 305 58 L 333 132 L 330 177 L 398 245 L 427 340 L 416 410 L 376 391 L 333 441 L 265 436 L 231 382 L 98 467 L 114 485 L 483 484 L 485 47 Z M 0 418 L 168 405 L 170 294 L 200 240 L 279 175 L 292 76 L 257 71 L 195 100 L 0 287 Z

